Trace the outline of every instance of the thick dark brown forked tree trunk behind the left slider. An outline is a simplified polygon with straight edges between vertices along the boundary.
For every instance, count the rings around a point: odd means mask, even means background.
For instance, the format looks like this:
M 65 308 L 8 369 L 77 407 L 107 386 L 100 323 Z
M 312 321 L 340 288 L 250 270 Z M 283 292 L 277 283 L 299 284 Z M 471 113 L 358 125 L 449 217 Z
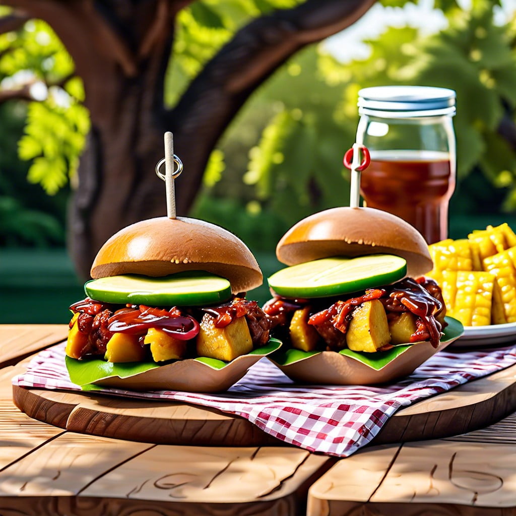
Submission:
M 174 133 L 185 165 L 177 207 L 186 215 L 209 154 L 251 93 L 289 57 L 356 21 L 376 0 L 306 0 L 252 21 L 207 63 L 178 105 L 163 104 L 178 11 L 192 0 L 6 0 L 49 23 L 82 77 L 91 131 L 69 217 L 69 247 L 89 278 L 96 252 L 116 231 L 166 214 L 154 167 Z

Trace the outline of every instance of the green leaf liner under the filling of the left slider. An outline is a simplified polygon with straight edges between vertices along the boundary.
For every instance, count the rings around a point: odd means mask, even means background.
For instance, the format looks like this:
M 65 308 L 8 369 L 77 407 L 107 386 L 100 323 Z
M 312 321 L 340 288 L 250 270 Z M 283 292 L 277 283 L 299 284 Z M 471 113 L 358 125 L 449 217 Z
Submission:
M 236 361 L 238 361 L 238 359 L 242 357 L 247 357 L 249 355 L 265 357 L 269 353 L 277 351 L 280 348 L 281 344 L 281 341 L 279 341 L 277 338 L 271 338 L 265 346 L 253 349 L 247 355 L 237 357 L 235 360 L 232 360 L 231 362 L 224 362 L 222 360 L 217 360 L 208 357 L 198 357 L 195 359 L 185 360 L 195 360 L 196 362 L 200 362 L 211 369 L 221 370 L 224 367 L 227 367 L 228 365 L 235 363 Z M 140 373 L 145 373 L 146 371 L 149 371 L 151 369 L 162 367 L 162 365 L 156 364 L 155 362 L 112 363 L 106 362 L 101 359 L 77 360 L 70 357 L 66 357 L 65 360 L 68 373 L 70 375 L 70 380 L 76 385 L 82 386 L 83 390 L 85 391 L 102 389 L 101 387 L 93 384 L 106 378 L 130 378 Z M 171 362 L 167 362 L 163 365 L 167 365 L 170 363 Z

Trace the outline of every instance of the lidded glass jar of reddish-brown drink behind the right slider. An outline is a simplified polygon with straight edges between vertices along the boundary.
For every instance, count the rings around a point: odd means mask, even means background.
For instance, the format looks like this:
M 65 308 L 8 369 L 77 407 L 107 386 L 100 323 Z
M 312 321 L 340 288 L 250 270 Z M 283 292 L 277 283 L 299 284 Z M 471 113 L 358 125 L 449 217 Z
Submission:
M 357 143 L 369 149 L 365 205 L 411 223 L 428 244 L 448 235 L 455 189 L 455 91 L 379 86 L 359 91 Z

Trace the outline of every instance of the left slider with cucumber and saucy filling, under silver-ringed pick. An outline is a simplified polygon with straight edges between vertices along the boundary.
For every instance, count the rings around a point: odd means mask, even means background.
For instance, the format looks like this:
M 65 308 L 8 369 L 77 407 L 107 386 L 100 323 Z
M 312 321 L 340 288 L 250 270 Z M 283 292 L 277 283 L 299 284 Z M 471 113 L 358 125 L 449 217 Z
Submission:
M 70 307 L 72 381 L 89 368 L 88 383 L 166 389 L 172 378 L 151 378 L 160 364 L 231 362 L 269 342 L 267 316 L 245 298 L 262 283 L 260 267 L 240 239 L 217 225 L 184 217 L 132 224 L 100 249 L 91 277 L 86 299 Z M 134 374 L 105 380 L 114 365 Z

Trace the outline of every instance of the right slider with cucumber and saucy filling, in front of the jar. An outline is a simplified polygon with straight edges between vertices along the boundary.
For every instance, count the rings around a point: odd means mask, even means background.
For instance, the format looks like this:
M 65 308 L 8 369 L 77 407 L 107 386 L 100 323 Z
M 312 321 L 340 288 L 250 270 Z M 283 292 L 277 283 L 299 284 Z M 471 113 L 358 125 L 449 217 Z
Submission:
M 264 311 L 272 334 L 293 349 L 350 350 L 379 357 L 399 345 L 440 345 L 446 307 L 423 236 L 373 208 L 307 217 L 279 241 L 289 267 L 269 278 Z

